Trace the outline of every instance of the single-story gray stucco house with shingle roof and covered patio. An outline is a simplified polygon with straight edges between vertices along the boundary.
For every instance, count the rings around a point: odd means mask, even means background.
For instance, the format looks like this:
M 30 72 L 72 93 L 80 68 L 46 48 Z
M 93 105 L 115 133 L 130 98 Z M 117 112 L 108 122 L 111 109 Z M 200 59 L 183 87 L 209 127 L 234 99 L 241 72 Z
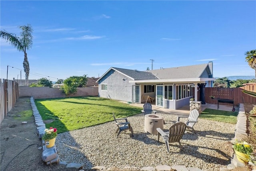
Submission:
M 146 72 L 111 67 L 97 82 L 100 97 L 141 103 L 143 96 L 150 96 L 158 107 L 178 109 L 192 97 L 197 101 L 197 87 L 212 87 L 214 80 L 213 63 L 209 62 Z

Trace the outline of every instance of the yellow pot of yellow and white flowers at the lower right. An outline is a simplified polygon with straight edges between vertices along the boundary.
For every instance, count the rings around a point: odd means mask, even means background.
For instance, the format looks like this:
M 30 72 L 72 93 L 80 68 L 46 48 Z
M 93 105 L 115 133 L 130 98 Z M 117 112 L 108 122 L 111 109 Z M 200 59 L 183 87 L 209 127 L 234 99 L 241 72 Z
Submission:
M 252 146 L 249 145 L 246 141 L 236 141 L 236 144 L 233 145 L 233 149 L 236 153 L 238 161 L 243 163 L 248 163 L 250 160 L 250 155 L 252 154 Z

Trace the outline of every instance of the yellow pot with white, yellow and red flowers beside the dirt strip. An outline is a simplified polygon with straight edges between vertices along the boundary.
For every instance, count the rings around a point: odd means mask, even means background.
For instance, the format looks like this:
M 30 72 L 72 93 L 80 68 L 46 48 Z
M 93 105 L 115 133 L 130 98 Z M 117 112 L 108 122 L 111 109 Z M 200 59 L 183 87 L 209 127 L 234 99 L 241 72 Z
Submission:
M 50 127 L 50 129 L 45 129 L 44 130 L 44 135 L 42 137 L 42 139 L 45 141 L 45 145 L 47 148 L 51 148 L 54 146 L 55 144 L 55 140 L 57 137 L 57 129 Z

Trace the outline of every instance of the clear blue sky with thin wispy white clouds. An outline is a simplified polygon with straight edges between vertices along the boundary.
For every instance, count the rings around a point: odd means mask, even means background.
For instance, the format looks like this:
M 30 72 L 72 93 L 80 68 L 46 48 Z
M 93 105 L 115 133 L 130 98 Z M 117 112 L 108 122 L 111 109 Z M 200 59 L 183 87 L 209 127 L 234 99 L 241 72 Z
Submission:
M 256 1 L 0 1 L 1 30 L 31 24 L 29 79 L 102 76 L 110 67 L 213 61 L 214 77 L 254 76 Z M 25 79 L 23 52 L 0 40 L 0 78 Z M 14 67 L 14 68 L 12 68 Z

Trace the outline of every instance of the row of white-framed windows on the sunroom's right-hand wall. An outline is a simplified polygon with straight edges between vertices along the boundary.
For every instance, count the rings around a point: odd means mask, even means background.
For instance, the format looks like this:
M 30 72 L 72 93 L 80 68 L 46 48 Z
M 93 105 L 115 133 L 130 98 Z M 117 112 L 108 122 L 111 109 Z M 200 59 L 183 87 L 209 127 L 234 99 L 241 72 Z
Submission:
M 176 85 L 176 99 L 183 99 L 193 96 L 193 85 Z

